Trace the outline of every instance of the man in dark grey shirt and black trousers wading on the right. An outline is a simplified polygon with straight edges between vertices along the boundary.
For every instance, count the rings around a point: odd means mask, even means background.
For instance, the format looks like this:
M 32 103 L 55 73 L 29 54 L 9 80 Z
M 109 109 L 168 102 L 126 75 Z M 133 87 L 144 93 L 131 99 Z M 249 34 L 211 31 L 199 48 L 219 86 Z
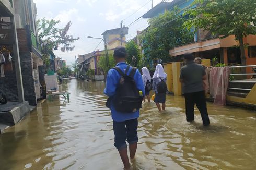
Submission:
M 202 65 L 194 63 L 191 53 L 185 53 L 186 65 L 180 70 L 180 82 L 184 84 L 183 94 L 185 96 L 186 118 L 188 122 L 194 121 L 194 105 L 199 109 L 203 125 L 208 126 L 210 120 L 207 113 L 205 91 L 203 80 L 206 79 L 206 72 Z

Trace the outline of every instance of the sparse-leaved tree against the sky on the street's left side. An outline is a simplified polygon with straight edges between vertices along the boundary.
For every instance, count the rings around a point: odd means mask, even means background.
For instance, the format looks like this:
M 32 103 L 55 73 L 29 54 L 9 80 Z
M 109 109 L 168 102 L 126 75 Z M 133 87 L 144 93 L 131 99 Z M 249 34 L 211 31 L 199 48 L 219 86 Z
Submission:
M 57 28 L 57 24 L 60 21 L 54 19 L 47 20 L 45 18 L 37 20 L 38 26 L 38 37 L 42 42 L 42 54 L 43 62 L 46 66 L 50 65 L 49 55 L 53 55 L 53 50 L 57 50 L 60 45 L 62 52 L 69 52 L 74 50 L 75 46 L 72 46 L 78 38 L 73 38 L 72 35 L 68 35 L 68 30 L 72 25 L 72 22 L 69 21 L 64 28 Z

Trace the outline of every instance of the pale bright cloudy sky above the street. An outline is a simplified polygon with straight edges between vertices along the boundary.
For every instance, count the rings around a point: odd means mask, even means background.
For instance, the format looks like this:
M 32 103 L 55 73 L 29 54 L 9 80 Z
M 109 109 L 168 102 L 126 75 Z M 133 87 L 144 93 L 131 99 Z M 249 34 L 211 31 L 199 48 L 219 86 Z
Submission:
M 160 1 L 153 0 L 153 6 Z M 67 60 L 68 65 L 75 62 L 75 56 L 78 54 L 90 53 L 96 49 L 100 40 L 88 39 L 88 35 L 103 38 L 101 34 L 106 30 L 119 28 L 121 20 L 128 26 L 152 7 L 152 1 L 149 0 L 34 0 L 34 3 L 37 5 L 38 18 L 60 20 L 60 27 L 72 21 L 69 34 L 80 37 L 74 43 L 75 50 L 69 53 L 54 51 L 56 56 Z M 126 39 L 132 39 L 137 30 L 147 26 L 147 19 L 139 19 L 129 26 Z M 104 49 L 103 43 L 98 49 Z

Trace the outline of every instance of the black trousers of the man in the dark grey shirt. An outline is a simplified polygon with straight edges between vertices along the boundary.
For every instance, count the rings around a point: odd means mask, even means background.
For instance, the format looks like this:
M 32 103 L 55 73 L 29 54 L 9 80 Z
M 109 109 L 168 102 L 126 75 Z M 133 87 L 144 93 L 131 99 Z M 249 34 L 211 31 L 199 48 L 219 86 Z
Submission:
M 205 126 L 210 124 L 208 112 L 207 112 L 207 106 L 206 106 L 206 100 L 205 100 L 205 92 L 199 91 L 194 93 L 186 93 L 185 96 L 185 102 L 186 102 L 186 118 L 188 122 L 193 121 L 194 118 L 194 106 L 196 104 L 196 107 L 201 113 L 201 117 L 203 120 L 203 124 Z

